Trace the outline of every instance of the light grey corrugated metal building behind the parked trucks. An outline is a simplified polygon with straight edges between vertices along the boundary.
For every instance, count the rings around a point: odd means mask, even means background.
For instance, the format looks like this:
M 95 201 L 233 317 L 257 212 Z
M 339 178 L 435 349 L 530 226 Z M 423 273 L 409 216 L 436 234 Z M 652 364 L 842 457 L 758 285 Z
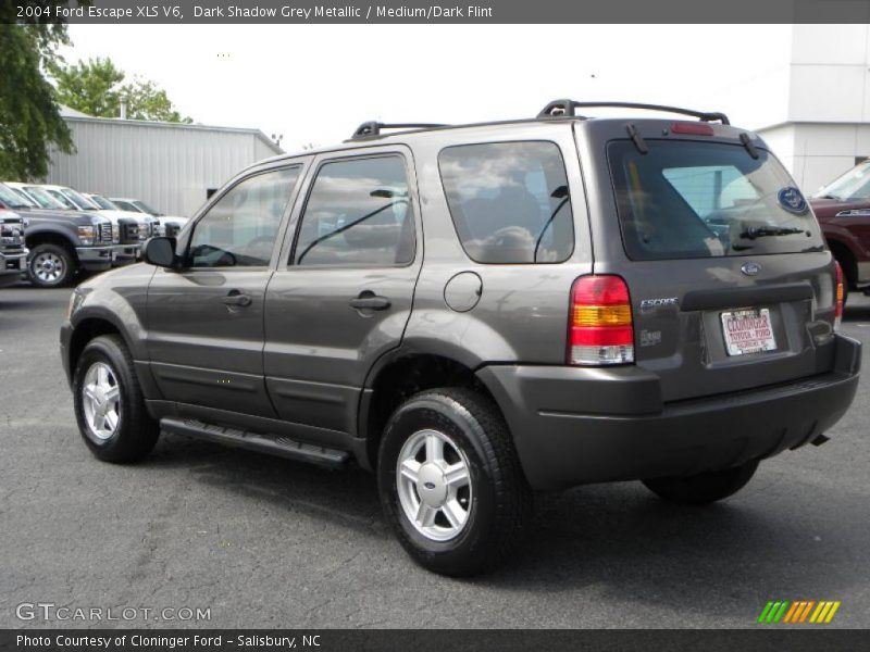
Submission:
M 141 199 L 192 215 L 241 168 L 283 153 L 262 131 L 91 117 L 62 108 L 76 151 L 52 152 L 48 183 L 105 197 Z

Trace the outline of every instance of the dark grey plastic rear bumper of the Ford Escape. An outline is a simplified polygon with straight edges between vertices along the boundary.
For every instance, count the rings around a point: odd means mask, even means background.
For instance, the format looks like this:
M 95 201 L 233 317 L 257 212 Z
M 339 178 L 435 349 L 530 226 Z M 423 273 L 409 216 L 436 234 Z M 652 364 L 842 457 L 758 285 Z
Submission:
M 816 439 L 855 398 L 861 344 L 836 336 L 834 365 L 797 381 L 662 403 L 638 367 L 487 366 L 529 482 L 558 489 L 694 475 Z

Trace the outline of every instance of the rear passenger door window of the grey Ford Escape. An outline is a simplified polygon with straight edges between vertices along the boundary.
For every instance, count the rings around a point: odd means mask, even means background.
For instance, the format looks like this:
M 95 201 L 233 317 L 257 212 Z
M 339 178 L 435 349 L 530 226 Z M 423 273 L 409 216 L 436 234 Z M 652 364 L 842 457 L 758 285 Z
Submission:
M 414 259 L 413 209 L 401 156 L 324 164 L 306 204 L 296 265 L 403 265 Z

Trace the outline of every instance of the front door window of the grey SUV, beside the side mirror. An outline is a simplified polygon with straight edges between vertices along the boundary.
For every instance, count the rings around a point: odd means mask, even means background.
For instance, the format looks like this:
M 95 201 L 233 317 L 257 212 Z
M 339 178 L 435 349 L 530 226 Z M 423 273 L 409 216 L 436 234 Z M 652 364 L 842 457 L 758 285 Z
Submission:
M 190 239 L 194 267 L 269 264 L 299 167 L 258 174 L 234 186 L 197 222 Z

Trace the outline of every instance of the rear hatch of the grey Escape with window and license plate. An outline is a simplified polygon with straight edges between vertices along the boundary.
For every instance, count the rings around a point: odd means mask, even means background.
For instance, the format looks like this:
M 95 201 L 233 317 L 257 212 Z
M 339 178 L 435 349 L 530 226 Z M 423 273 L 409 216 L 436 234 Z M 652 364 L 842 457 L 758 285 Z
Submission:
M 600 143 L 616 206 L 593 222 L 595 272 L 629 286 L 636 364 L 666 401 L 828 371 L 834 267 L 788 173 L 731 127 L 648 122 Z

